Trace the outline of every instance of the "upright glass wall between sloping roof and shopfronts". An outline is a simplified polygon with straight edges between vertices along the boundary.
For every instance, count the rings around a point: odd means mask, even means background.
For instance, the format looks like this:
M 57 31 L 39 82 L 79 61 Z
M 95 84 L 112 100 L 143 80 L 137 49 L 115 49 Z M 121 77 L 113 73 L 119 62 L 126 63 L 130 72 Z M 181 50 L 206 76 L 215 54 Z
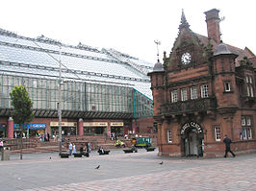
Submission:
M 0 75 L 0 108 L 11 108 L 14 84 L 26 86 L 35 109 L 57 110 L 59 83 L 39 79 Z M 62 84 L 63 110 L 125 112 L 135 118 L 153 115 L 153 101 L 129 86 L 67 82 Z

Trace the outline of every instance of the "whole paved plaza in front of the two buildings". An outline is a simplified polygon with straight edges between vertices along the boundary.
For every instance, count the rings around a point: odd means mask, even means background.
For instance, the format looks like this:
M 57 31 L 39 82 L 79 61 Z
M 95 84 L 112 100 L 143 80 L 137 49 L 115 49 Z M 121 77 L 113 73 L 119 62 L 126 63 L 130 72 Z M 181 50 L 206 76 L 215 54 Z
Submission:
M 256 154 L 170 158 L 140 149 L 134 154 L 93 152 L 89 158 L 59 158 L 57 153 L 23 158 L 0 161 L 1 191 L 256 190 Z

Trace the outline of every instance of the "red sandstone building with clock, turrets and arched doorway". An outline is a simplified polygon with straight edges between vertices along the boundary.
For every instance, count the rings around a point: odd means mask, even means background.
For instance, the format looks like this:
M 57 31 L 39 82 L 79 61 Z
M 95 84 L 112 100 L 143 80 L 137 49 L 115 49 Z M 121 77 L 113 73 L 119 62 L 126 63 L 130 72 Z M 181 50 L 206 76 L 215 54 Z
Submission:
M 204 12 L 208 36 L 193 33 L 183 12 L 169 57 L 148 74 L 159 155 L 223 156 L 224 134 L 236 154 L 256 151 L 256 57 L 220 40 L 218 12 Z

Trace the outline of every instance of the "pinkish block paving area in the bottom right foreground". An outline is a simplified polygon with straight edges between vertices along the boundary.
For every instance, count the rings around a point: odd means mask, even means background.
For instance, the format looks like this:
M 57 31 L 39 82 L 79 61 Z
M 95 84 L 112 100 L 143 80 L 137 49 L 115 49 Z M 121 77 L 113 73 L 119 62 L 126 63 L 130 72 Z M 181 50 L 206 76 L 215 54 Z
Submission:
M 250 166 L 249 164 L 254 164 Z M 163 169 L 164 170 L 164 169 Z M 129 178 L 77 182 L 29 190 L 256 190 L 255 158 Z M 29 191 L 26 190 L 26 191 Z

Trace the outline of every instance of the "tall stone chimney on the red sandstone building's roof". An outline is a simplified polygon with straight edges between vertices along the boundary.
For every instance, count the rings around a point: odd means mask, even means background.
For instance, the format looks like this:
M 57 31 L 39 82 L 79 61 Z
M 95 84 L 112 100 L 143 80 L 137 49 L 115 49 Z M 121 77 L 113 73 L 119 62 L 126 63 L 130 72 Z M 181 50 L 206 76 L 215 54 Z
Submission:
M 212 38 L 217 42 L 220 43 L 220 32 L 219 32 L 219 17 L 218 17 L 218 10 L 213 9 L 208 12 L 204 12 L 206 16 L 206 23 L 207 23 L 207 32 L 208 37 Z

